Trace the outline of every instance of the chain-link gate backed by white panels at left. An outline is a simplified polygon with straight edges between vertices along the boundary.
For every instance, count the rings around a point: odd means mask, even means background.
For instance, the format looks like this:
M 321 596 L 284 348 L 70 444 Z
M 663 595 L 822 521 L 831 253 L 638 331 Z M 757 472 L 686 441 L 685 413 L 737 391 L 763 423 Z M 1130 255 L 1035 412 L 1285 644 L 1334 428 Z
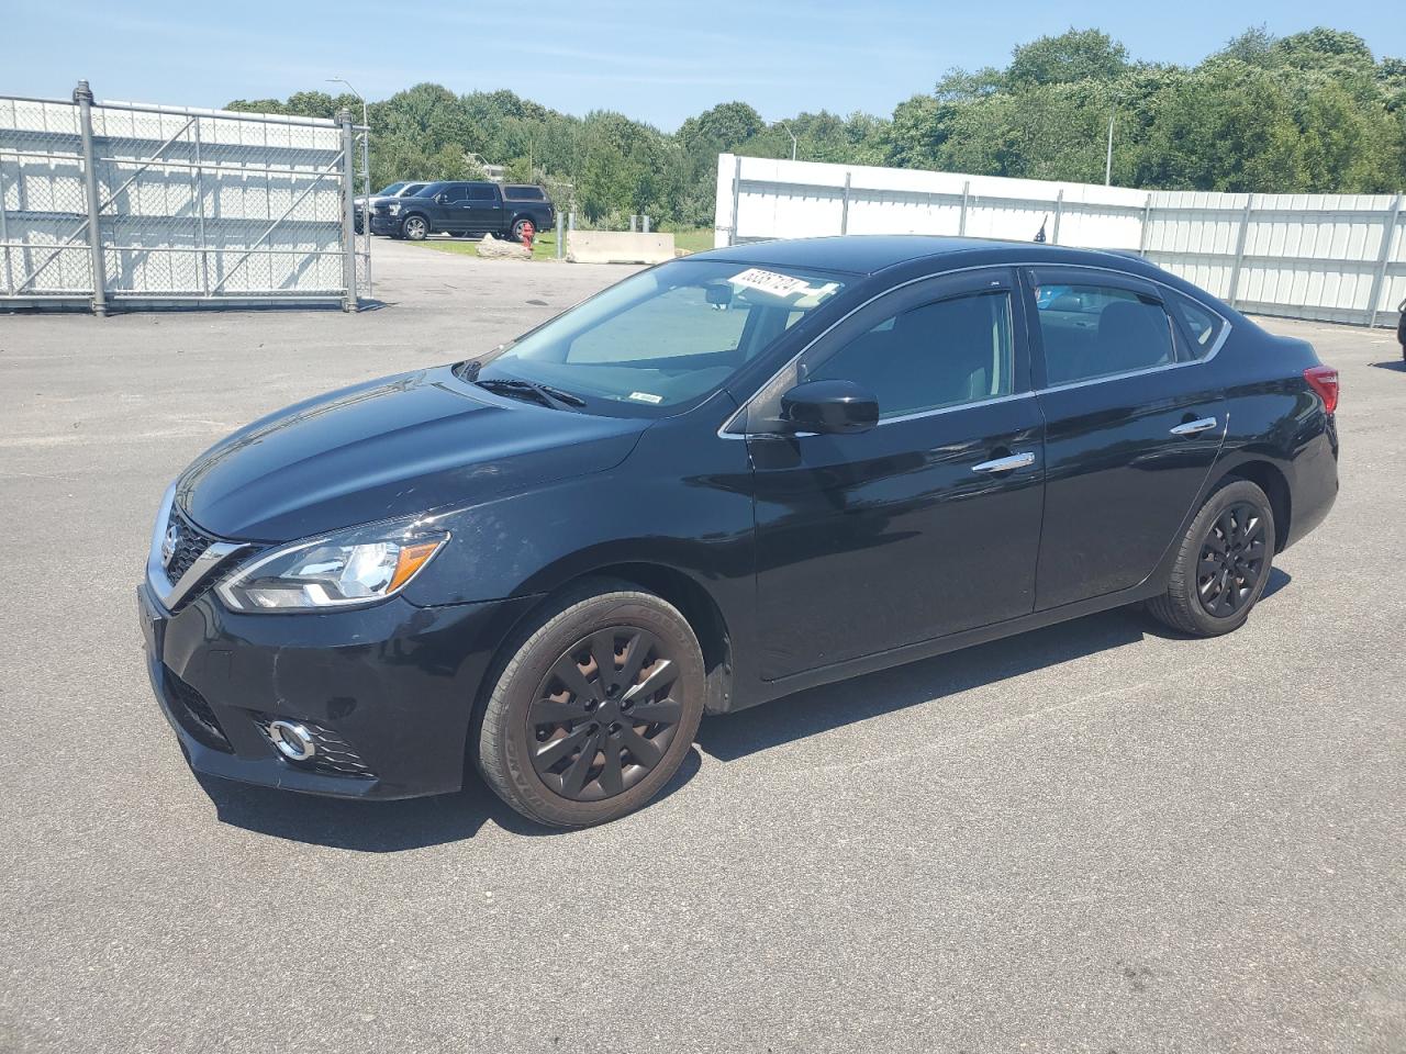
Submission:
M 0 306 L 370 297 L 353 128 L 271 114 L 0 97 Z

